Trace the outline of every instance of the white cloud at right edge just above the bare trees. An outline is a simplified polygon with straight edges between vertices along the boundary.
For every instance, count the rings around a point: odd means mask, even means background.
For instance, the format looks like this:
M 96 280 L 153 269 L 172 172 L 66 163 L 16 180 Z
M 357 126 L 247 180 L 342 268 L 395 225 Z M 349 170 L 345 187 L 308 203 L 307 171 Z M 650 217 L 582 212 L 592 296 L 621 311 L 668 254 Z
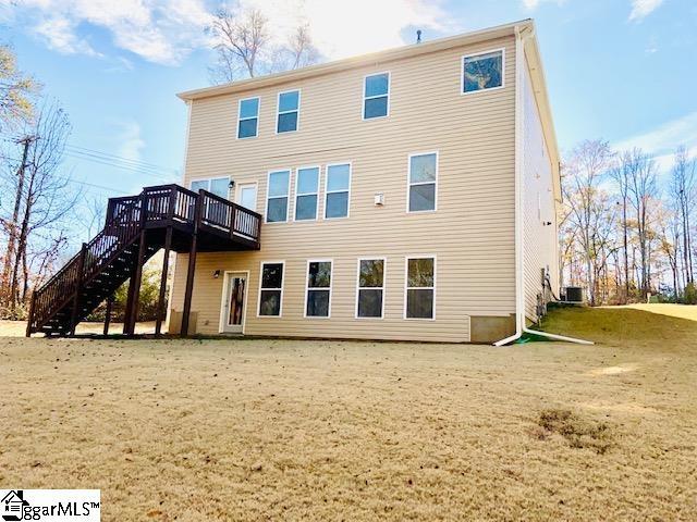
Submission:
M 697 154 L 697 111 L 665 122 L 653 130 L 617 141 L 613 148 L 629 150 L 637 147 L 653 156 L 662 171 L 668 171 L 673 164 L 673 153 L 680 146 Z

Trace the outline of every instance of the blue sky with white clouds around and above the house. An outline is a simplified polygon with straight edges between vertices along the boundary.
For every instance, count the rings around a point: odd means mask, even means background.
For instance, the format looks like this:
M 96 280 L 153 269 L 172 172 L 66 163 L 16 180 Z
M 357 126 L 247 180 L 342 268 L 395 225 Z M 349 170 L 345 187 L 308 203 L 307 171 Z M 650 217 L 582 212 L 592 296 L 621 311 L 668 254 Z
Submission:
M 273 33 L 297 20 L 327 59 L 533 17 L 562 150 L 585 138 L 640 146 L 662 165 L 697 152 L 697 2 L 692 0 L 242 0 Z M 186 123 L 175 94 L 209 85 L 205 0 L 0 0 L 0 39 L 66 109 L 65 169 L 91 196 L 180 177 Z M 89 161 L 112 154 L 123 167 Z M 103 156 L 101 156 L 103 159 Z M 94 157 L 93 157 L 94 159 Z

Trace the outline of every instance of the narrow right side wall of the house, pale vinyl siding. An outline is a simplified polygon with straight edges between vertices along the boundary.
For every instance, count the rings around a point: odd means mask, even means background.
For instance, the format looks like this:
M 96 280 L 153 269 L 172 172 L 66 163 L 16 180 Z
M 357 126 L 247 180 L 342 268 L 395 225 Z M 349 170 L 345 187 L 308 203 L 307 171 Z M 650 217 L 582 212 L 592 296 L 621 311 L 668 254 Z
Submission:
M 537 321 L 537 296 L 542 293 L 541 270 L 549 270 L 554 291 L 559 286 L 557 211 L 549 149 L 542 133 L 527 60 L 524 63 L 525 82 L 522 87 L 525 314 L 527 319 Z M 552 224 L 543 225 L 547 222 Z

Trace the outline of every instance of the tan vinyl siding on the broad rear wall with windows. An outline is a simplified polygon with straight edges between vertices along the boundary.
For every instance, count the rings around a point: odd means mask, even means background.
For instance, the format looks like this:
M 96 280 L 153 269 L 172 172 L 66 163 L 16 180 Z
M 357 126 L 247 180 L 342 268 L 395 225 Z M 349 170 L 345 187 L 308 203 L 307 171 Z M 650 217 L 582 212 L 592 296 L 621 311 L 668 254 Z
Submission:
M 461 95 L 461 57 L 505 47 L 505 87 Z M 470 315 L 514 313 L 514 83 L 512 37 L 370 67 L 195 100 L 184 183 L 231 176 L 258 182 L 265 214 L 267 173 L 321 165 L 317 222 L 265 224 L 261 250 L 199 253 L 192 310 L 197 331 L 219 332 L 223 277 L 248 271 L 245 333 L 441 341 L 469 340 Z M 363 80 L 389 71 L 390 116 L 363 121 Z M 276 134 L 277 95 L 301 89 L 299 130 Z M 235 139 L 237 100 L 259 96 L 259 135 Z M 438 210 L 406 212 L 407 158 L 439 152 Z M 327 163 L 351 161 L 350 217 L 325 221 Z M 374 195 L 384 194 L 384 206 Z M 231 199 L 235 195 L 231 194 Z M 436 320 L 405 321 L 405 256 L 437 256 Z M 382 320 L 356 320 L 356 259 L 387 257 Z M 333 260 L 331 319 L 304 319 L 307 259 Z M 262 261 L 285 261 L 283 316 L 257 318 Z M 176 260 L 171 306 L 181 311 L 187 256 Z

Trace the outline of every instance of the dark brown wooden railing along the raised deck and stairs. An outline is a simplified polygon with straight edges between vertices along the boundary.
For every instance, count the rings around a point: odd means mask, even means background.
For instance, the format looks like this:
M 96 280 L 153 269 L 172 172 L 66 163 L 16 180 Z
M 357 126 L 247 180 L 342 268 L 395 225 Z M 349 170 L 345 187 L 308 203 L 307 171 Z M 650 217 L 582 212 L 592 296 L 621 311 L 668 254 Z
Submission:
M 196 207 L 200 206 L 196 222 Z M 207 190 L 198 194 L 179 185 L 146 187 L 139 196 L 111 198 L 105 227 L 40 288 L 34 291 L 29 328 L 38 330 L 53 313 L 107 266 L 144 227 L 180 225 L 191 232 L 210 227 L 217 233 L 259 241 L 261 216 Z

